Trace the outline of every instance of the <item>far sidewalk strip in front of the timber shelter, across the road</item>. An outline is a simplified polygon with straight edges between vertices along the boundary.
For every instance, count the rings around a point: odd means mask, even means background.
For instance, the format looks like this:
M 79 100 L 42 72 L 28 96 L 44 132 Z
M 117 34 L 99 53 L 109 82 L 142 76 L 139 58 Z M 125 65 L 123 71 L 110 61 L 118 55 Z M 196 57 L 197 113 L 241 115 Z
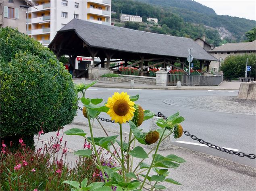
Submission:
M 74 83 L 82 83 L 81 78 L 73 79 Z M 85 79 L 83 83 L 91 83 L 91 80 Z M 223 81 L 218 86 L 183 86 L 181 88 L 177 88 L 175 86 L 159 86 L 159 85 L 150 85 L 134 82 L 134 89 L 178 89 L 178 90 L 193 90 L 193 89 L 216 89 L 216 90 L 224 90 L 224 89 L 239 89 L 241 82 L 228 82 Z M 107 87 L 107 88 L 129 88 L 131 89 L 131 83 L 129 82 L 110 82 L 110 81 L 98 81 L 93 87 Z

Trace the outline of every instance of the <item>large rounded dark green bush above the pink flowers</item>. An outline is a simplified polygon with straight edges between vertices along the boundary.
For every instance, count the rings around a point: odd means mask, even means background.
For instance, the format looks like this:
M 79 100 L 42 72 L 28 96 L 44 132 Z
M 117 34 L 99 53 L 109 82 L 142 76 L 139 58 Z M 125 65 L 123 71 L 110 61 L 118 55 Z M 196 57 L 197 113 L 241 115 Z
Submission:
M 0 28 L 1 138 L 56 131 L 77 110 L 71 75 L 48 48 Z

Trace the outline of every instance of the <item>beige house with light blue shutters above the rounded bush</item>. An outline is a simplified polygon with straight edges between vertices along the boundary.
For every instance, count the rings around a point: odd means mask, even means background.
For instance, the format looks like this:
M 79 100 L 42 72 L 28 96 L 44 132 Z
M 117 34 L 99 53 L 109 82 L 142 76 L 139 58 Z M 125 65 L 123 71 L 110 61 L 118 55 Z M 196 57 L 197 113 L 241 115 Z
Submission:
M 0 0 L 0 27 L 10 26 L 18 28 L 21 33 L 27 32 L 26 30 L 26 8 L 33 6 L 27 0 Z

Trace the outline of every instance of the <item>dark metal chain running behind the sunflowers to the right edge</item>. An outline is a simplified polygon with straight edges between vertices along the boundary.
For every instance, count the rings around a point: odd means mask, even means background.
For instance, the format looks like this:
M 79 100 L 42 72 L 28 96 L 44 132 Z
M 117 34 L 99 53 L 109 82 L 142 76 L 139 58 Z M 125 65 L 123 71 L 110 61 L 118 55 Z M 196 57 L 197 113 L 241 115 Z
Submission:
M 79 107 L 79 110 L 83 111 L 83 108 Z M 164 116 L 161 112 L 158 112 L 157 114 L 155 114 L 155 116 L 157 117 L 160 117 L 160 118 L 164 118 L 164 119 L 167 119 L 166 116 Z M 109 119 L 105 119 L 105 118 L 100 118 L 98 116 L 98 119 L 102 120 L 102 121 L 106 121 L 106 122 L 111 122 L 111 123 L 114 123 L 114 120 L 109 120 Z M 248 158 L 251 158 L 251 159 L 255 159 L 256 158 L 256 155 L 255 154 L 245 154 L 244 152 L 236 152 L 235 150 L 229 150 L 227 148 L 223 148 L 223 147 L 220 147 L 220 146 L 217 146 L 215 144 L 212 144 L 210 142 L 206 142 L 204 140 L 202 140 L 201 138 L 197 138 L 195 135 L 191 135 L 188 131 L 183 131 L 184 134 L 186 136 L 190 136 L 191 139 L 193 140 L 197 140 L 199 141 L 201 144 L 206 144 L 207 146 L 209 146 L 210 148 L 215 148 L 221 152 L 227 152 L 229 154 L 235 154 L 237 156 L 240 156 L 240 157 L 244 157 L 244 156 L 247 156 Z

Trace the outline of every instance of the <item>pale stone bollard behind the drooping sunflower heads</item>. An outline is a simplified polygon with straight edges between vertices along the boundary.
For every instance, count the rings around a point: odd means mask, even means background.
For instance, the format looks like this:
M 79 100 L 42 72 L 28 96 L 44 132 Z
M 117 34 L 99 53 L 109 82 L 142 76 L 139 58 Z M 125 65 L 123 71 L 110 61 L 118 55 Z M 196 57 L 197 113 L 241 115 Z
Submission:
M 158 127 L 157 124 L 156 124 L 156 121 L 157 121 L 158 119 L 161 119 L 161 118 L 153 117 L 153 118 L 151 119 L 150 126 L 149 126 L 149 130 L 154 131 L 154 130 L 157 130 L 157 129 L 160 128 L 160 127 Z M 173 135 L 171 135 L 171 136 L 173 136 Z M 160 138 L 160 137 L 159 137 L 159 138 Z M 152 149 L 152 148 L 154 148 L 157 144 L 158 144 L 158 142 L 153 143 L 153 144 L 150 144 L 150 145 L 148 145 L 148 148 Z M 163 141 L 161 142 L 161 144 L 159 145 L 158 150 L 169 150 L 169 149 L 171 149 L 170 137 L 166 138 L 165 140 L 163 140 Z

